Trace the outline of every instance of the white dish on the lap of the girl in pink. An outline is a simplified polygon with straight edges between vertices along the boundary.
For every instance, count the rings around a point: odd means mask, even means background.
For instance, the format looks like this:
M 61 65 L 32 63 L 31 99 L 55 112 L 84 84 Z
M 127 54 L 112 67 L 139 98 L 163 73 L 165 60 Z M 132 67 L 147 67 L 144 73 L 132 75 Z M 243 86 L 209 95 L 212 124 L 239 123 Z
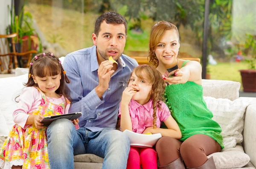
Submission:
M 129 137 L 131 146 L 135 147 L 152 147 L 157 143 L 157 140 L 162 137 L 160 133 L 144 135 L 131 132 L 130 130 L 125 130 L 123 133 Z

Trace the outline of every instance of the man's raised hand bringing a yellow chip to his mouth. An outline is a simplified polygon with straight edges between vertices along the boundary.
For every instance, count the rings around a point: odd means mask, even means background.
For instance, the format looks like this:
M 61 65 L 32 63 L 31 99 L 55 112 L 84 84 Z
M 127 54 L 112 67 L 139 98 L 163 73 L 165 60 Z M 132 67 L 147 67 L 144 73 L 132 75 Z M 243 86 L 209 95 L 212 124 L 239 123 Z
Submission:
M 113 62 L 105 60 L 99 65 L 98 77 L 99 85 L 95 88 L 96 94 L 101 98 L 104 92 L 108 89 L 108 83 L 111 75 L 115 72 L 111 70 L 113 68 Z

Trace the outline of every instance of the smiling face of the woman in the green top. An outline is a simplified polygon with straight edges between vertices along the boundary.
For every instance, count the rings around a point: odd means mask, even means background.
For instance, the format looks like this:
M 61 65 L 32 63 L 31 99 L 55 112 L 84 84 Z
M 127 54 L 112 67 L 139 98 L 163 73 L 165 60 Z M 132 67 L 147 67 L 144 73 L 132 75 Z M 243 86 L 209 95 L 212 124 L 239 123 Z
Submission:
M 175 29 L 167 30 L 154 49 L 159 65 L 170 67 L 177 64 L 176 58 L 179 48 L 180 43 L 177 31 Z

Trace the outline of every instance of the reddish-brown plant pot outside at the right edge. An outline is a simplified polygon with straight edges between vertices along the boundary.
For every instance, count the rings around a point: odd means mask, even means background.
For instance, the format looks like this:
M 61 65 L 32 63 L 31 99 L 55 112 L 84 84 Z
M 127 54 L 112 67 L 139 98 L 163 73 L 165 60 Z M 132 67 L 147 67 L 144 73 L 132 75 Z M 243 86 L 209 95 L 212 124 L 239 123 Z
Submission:
M 256 92 L 256 70 L 239 70 L 244 92 Z

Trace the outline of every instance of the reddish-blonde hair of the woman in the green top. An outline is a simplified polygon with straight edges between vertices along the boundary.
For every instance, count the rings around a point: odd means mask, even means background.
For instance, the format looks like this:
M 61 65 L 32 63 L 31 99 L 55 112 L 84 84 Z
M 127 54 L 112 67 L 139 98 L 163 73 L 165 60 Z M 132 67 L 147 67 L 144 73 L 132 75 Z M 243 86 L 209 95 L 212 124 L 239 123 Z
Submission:
M 149 51 L 148 51 L 148 57 L 149 57 L 149 63 L 151 63 L 154 66 L 158 66 L 158 59 L 157 56 L 154 52 L 154 49 L 157 47 L 157 44 L 160 42 L 160 40 L 163 37 L 163 34 L 167 31 L 167 30 L 176 30 L 178 38 L 179 38 L 179 43 L 180 43 L 180 35 L 178 32 L 177 27 L 172 24 L 169 23 L 167 21 L 159 21 L 157 24 L 155 24 L 151 30 L 150 33 L 150 40 L 149 40 Z

